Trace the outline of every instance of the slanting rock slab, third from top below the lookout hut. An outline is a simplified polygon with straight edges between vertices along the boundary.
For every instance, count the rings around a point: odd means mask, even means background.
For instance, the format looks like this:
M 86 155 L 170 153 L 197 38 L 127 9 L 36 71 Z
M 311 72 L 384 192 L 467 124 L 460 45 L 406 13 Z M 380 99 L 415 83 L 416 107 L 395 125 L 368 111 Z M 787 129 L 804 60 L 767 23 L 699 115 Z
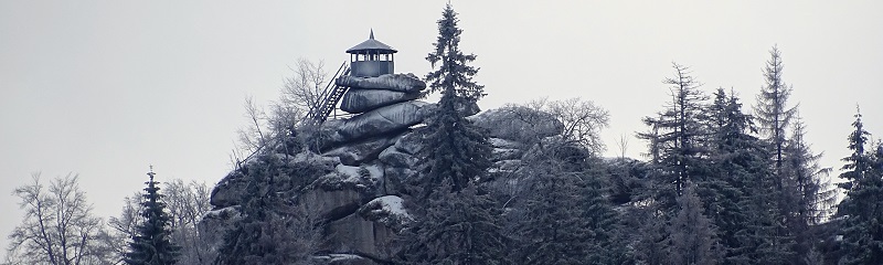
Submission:
M 344 120 L 338 128 L 338 134 L 343 140 L 353 141 L 402 131 L 423 123 L 425 114 L 421 109 L 426 105 L 424 102 L 411 100 L 363 113 Z

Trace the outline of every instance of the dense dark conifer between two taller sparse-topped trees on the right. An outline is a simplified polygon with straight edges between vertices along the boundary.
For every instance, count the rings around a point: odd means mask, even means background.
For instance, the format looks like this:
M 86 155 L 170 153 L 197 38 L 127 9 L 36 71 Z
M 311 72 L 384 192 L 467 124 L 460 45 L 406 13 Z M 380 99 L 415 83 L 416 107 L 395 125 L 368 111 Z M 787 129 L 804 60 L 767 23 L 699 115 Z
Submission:
M 723 264 L 777 264 L 792 255 L 768 146 L 752 132 L 754 118 L 722 88 L 710 106 L 709 178 L 696 183 L 705 214 L 720 229 Z

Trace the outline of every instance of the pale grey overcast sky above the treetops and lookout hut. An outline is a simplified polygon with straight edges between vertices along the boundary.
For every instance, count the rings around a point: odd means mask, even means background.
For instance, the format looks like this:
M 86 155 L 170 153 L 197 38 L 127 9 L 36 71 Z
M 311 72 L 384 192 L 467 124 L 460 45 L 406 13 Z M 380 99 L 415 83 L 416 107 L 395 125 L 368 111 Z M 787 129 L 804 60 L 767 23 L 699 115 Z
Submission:
M 0 246 L 22 214 L 11 192 L 32 172 L 79 173 L 103 218 L 142 188 L 149 165 L 160 181 L 214 184 L 246 96 L 276 98 L 298 57 L 336 70 L 372 28 L 398 50 L 396 72 L 423 76 L 446 2 L 0 1 Z M 482 108 L 594 100 L 610 113 L 608 156 L 662 109 L 671 62 L 751 109 L 773 45 L 823 166 L 847 156 L 855 104 L 883 134 L 880 1 L 453 2 Z M 630 156 L 643 149 L 629 141 Z

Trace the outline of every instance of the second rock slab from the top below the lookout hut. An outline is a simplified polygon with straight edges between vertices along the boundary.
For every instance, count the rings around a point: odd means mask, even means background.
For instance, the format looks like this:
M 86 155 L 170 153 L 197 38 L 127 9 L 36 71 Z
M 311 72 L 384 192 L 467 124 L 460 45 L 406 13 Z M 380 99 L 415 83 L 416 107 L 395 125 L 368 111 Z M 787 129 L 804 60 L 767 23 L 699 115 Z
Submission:
M 414 100 L 419 96 L 419 93 L 352 88 L 349 89 L 347 94 L 343 94 L 343 98 L 340 102 L 340 109 L 352 114 L 359 114 L 396 103 Z

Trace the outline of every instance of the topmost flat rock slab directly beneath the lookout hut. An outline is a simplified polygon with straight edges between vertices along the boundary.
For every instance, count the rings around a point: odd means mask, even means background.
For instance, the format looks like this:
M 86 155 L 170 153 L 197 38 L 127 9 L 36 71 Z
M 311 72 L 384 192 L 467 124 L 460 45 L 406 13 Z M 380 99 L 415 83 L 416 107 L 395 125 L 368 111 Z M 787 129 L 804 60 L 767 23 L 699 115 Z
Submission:
M 426 83 L 414 74 L 385 74 L 377 77 L 344 75 L 338 77 L 334 84 L 364 89 L 386 89 L 408 93 L 419 92 L 426 88 Z

